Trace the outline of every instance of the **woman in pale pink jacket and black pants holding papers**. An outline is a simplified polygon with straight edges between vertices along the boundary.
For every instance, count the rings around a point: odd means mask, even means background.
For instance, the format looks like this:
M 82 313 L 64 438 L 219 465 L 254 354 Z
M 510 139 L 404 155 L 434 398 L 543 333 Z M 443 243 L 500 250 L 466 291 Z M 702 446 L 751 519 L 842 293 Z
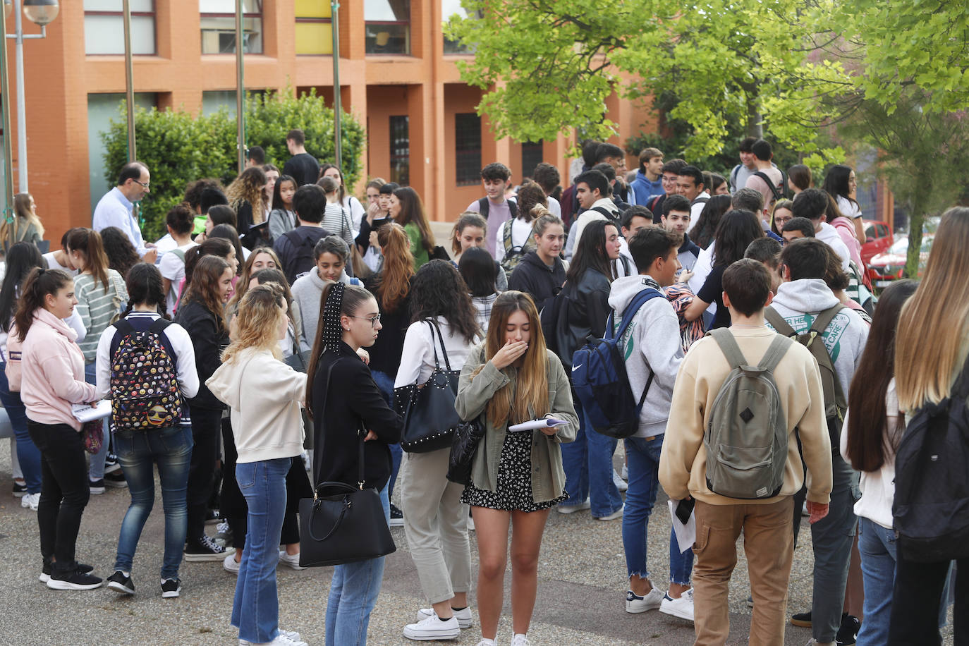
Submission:
M 90 566 L 75 560 L 80 516 L 91 492 L 80 439 L 81 424 L 71 405 L 95 399 L 84 382 L 84 355 L 64 319 L 78 299 L 74 280 L 59 269 L 35 268 L 20 295 L 15 323 L 21 348 L 20 393 L 30 439 L 41 450 L 41 501 L 37 524 L 44 569 L 41 580 L 54 590 L 101 587 Z

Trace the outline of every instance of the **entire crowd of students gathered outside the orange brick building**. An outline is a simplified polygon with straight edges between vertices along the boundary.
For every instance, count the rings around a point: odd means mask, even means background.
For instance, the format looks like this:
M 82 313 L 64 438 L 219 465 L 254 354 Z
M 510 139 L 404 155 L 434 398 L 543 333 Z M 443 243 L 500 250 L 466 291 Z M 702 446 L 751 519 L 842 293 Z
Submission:
M 896 550 L 894 456 L 906 419 L 957 392 L 967 360 L 969 209 L 943 215 L 922 282 L 892 284 L 876 306 L 854 172 L 834 167 L 815 189 L 805 167 L 773 167 L 763 139 L 741 143 L 727 177 L 655 148 L 627 177 L 621 149 L 598 142 L 565 191 L 550 165 L 513 189 L 510 169 L 488 164 L 450 256 L 414 189 L 374 179 L 364 207 L 299 131 L 288 145 L 282 172 L 255 159 L 225 191 L 208 179 L 186 187 L 155 245 L 117 226 L 137 228 L 117 209 L 148 190 L 138 163 L 102 200 L 111 218 L 95 217 L 113 227 L 67 231 L 42 256 L 32 198 L 5 225 L 16 240 L 0 288 L 0 402 L 49 588 L 105 584 L 78 561 L 79 523 L 91 494 L 127 486 L 107 585 L 135 594 L 155 465 L 162 597 L 179 596 L 183 559 L 221 562 L 237 576 L 240 643 L 304 643 L 279 627 L 275 571 L 303 569 L 298 501 L 323 482 L 375 489 L 381 523 L 404 528 L 429 606 L 403 627 L 410 639 L 469 630 L 473 594 L 479 646 L 499 642 L 511 530 L 511 643 L 526 646 L 555 508 L 621 519 L 626 611 L 693 622 L 697 644 L 728 639 L 741 534 L 749 641 L 784 642 L 802 514 L 812 604 L 790 621 L 811 628 L 809 644 L 940 643 L 950 561 Z M 109 248 L 111 229 L 120 243 Z M 945 340 L 924 347 L 926 329 Z M 594 421 L 572 374 L 588 339 L 614 334 L 621 387 L 638 402 L 635 428 L 618 437 Z M 448 479 L 450 446 L 400 444 L 413 393 L 440 387 L 428 380 L 443 365 L 459 373 L 457 415 L 482 433 L 466 484 Z M 741 378 L 769 391 L 744 399 L 730 389 Z M 104 422 L 81 422 L 78 405 L 101 399 Z M 511 428 L 546 417 L 559 425 Z M 745 446 L 746 433 L 773 444 Z M 692 506 L 696 526 L 692 549 L 671 532 L 668 583 L 647 558 L 660 486 Z M 384 557 L 336 566 L 327 644 L 365 643 L 383 569 Z M 969 616 L 962 569 L 957 643 Z

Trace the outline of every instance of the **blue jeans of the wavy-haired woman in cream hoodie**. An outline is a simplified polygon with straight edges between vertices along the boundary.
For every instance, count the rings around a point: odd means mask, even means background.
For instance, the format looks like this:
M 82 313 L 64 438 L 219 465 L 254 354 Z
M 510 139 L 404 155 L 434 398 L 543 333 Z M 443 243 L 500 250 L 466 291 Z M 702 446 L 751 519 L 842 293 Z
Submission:
M 235 583 L 232 625 L 239 639 L 262 644 L 279 632 L 276 564 L 286 514 L 286 474 L 289 457 L 235 465 L 235 480 L 249 513 L 245 553 Z

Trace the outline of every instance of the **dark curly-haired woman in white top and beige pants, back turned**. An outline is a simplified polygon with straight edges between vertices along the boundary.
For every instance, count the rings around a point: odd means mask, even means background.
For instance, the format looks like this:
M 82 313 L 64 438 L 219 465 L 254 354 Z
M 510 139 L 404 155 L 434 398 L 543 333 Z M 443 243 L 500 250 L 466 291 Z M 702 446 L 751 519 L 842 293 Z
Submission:
M 407 328 L 394 389 L 425 386 L 435 367 L 460 370 L 480 341 L 476 310 L 468 288 L 453 264 L 430 261 L 414 276 L 411 288 L 414 323 Z M 471 548 L 468 508 L 461 504 L 463 487 L 447 478 L 451 448 L 404 454 L 400 465 L 401 507 L 411 557 L 417 566 L 430 608 L 404 628 L 409 639 L 454 639 L 471 627 Z

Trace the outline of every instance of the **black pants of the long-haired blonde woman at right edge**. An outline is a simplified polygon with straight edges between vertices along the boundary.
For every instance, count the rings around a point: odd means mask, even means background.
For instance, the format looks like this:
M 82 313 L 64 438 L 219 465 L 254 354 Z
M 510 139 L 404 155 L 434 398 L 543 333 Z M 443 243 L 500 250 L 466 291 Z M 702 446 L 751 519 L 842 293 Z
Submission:
M 891 599 L 889 646 L 935 646 L 942 643 L 939 604 L 949 573 L 949 563 L 907 561 L 898 550 Z M 969 559 L 956 562 L 953 620 L 954 644 L 966 646 L 969 644 Z

